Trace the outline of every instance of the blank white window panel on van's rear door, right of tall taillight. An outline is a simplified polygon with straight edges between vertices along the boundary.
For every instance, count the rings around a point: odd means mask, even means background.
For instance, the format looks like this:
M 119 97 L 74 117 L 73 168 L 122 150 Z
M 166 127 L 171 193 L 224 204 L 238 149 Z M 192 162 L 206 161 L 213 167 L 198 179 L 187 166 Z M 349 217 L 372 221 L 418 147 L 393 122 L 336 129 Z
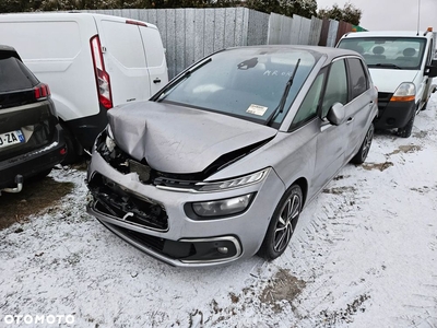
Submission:
M 137 25 L 102 21 L 105 40 L 102 46 L 125 68 L 144 68 L 144 48 Z M 102 40 L 102 39 L 101 39 Z

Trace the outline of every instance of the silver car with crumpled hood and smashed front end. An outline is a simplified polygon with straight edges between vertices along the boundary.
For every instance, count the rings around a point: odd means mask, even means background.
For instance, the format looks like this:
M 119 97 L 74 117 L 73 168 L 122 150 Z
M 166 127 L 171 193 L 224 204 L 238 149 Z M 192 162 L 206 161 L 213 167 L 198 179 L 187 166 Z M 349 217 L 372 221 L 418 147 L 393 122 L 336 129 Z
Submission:
M 108 112 L 87 211 L 173 266 L 274 259 L 303 208 L 346 163 L 365 161 L 377 110 L 357 52 L 218 51 L 150 101 Z

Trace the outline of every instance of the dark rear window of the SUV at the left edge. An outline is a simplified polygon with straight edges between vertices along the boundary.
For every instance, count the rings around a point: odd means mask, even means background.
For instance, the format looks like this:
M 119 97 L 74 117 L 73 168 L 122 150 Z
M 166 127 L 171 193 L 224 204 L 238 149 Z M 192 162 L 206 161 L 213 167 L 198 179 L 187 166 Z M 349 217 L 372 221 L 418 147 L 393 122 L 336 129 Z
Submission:
M 34 74 L 14 57 L 0 59 L 0 92 L 28 90 L 39 82 Z

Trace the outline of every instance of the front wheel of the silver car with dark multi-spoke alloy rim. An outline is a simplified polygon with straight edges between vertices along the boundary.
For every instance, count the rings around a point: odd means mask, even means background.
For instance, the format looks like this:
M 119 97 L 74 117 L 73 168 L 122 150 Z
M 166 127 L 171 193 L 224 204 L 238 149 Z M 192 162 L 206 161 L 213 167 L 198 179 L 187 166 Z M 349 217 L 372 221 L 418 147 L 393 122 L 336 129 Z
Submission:
M 298 185 L 293 185 L 284 194 L 274 210 L 259 256 L 273 260 L 285 251 L 299 219 L 303 200 Z

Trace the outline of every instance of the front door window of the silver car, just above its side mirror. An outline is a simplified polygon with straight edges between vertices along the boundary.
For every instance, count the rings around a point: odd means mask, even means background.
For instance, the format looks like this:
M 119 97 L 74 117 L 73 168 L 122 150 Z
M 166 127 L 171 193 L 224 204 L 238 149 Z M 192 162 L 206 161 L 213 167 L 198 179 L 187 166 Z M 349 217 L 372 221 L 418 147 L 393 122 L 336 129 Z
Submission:
M 329 108 L 335 103 L 347 103 L 347 75 L 344 60 L 336 60 L 331 65 L 327 89 L 323 96 L 321 118 L 324 118 Z

